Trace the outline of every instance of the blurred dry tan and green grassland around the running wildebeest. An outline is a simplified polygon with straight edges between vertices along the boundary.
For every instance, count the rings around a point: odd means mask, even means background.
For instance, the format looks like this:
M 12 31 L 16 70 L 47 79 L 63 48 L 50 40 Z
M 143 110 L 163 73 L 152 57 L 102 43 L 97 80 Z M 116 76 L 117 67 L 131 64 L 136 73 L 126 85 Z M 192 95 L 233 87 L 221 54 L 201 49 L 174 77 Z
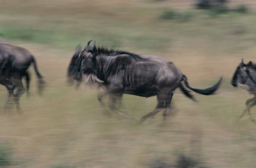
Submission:
M 256 3 L 246 13 L 220 14 L 195 9 L 193 1 L 0 1 L 0 42 L 24 47 L 37 60 L 47 87 L 37 94 L 31 68 L 30 97 L 20 99 L 22 116 L 0 116 L 0 167 L 130 168 L 177 167 L 180 155 L 195 167 L 255 167 L 255 125 L 248 117 L 231 124 L 252 97 L 230 85 L 239 64 L 255 61 Z M 169 16 L 171 19 L 163 19 Z M 75 47 L 96 39 L 135 53 L 158 54 L 174 62 L 191 86 L 206 88 L 223 75 L 215 95 L 179 89 L 172 114 L 159 113 L 138 125 L 116 114 L 106 117 L 97 101 L 100 90 L 67 86 L 66 72 Z M 255 61 L 256 62 L 256 61 Z M 0 109 L 8 93 L 0 87 Z M 105 97 L 105 101 L 108 97 Z M 137 120 L 154 109 L 156 97 L 124 95 L 123 108 Z M 256 117 L 256 109 L 252 109 Z M 4 153 L 6 152 L 6 153 Z M 4 153 L 4 156 L 1 156 Z

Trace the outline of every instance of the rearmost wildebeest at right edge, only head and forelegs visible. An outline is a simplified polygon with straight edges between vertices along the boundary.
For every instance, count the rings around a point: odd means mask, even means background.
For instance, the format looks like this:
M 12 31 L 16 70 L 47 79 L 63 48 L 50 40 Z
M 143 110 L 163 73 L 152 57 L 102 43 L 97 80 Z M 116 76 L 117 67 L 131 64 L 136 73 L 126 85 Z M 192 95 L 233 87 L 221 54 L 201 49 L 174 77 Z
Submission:
M 245 64 L 243 63 L 243 59 L 241 59 L 241 62 L 238 65 L 236 72 L 234 73 L 231 84 L 235 87 L 241 86 L 250 94 L 254 94 L 253 98 L 250 98 L 246 101 L 246 109 L 234 122 L 241 119 L 246 111 L 248 111 L 251 121 L 256 124 L 256 121 L 250 112 L 250 108 L 256 104 L 256 64 L 253 64 L 251 61 L 248 62 L 248 64 Z

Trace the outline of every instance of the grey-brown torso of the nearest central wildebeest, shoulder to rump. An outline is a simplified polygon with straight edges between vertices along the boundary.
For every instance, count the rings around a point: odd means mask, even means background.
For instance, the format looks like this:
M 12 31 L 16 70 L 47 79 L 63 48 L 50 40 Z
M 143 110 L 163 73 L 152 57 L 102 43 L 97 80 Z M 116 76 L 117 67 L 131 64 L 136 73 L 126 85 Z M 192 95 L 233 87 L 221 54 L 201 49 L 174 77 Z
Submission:
M 181 71 L 172 64 L 138 61 L 120 66 L 109 66 L 116 70 L 108 75 L 110 78 L 103 80 L 112 92 L 150 97 L 162 91 L 171 92 L 173 85 L 183 80 Z

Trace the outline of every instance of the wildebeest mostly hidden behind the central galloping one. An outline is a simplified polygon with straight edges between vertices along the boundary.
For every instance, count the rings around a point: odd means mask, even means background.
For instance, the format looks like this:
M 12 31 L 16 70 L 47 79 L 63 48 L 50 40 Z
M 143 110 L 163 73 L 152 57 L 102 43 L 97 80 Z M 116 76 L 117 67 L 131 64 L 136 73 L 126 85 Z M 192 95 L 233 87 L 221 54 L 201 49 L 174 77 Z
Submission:
M 87 46 L 83 49 L 84 51 L 87 51 L 87 52 L 92 52 L 93 51 L 93 48 L 91 46 L 89 46 L 91 41 L 89 41 Z M 82 50 L 82 48 L 79 47 L 78 50 L 74 53 L 74 55 L 73 55 L 73 57 L 70 61 L 70 64 L 69 64 L 69 67 L 68 67 L 68 73 L 67 73 L 67 76 L 68 76 L 68 78 L 67 78 L 68 81 L 67 82 L 70 85 L 72 85 L 74 83 L 74 81 L 76 81 L 76 87 L 78 87 L 80 85 L 80 83 L 82 82 L 81 73 L 74 72 L 74 68 L 77 68 L 76 67 L 76 60 L 78 59 L 81 50 Z M 150 54 L 138 54 L 138 55 L 140 57 L 142 57 L 143 59 L 148 59 L 148 60 L 151 60 L 151 61 L 158 61 L 158 62 L 165 62 L 165 63 L 172 64 L 172 62 L 168 61 L 166 58 L 161 57 L 159 55 L 150 55 Z M 90 80 L 90 83 L 91 82 L 94 83 L 95 81 Z M 96 83 L 96 85 L 99 86 L 97 83 Z M 101 85 L 101 86 L 103 86 L 103 85 Z M 104 86 L 103 86 L 103 89 L 104 89 Z M 119 111 L 116 110 L 116 106 L 121 105 L 122 96 L 123 96 L 123 93 L 109 93 L 109 103 L 108 103 L 109 108 L 111 110 L 115 111 L 116 113 L 118 113 L 121 116 L 122 116 L 122 113 L 119 113 Z M 165 112 L 164 115 L 167 115 L 166 111 L 164 111 L 164 112 Z

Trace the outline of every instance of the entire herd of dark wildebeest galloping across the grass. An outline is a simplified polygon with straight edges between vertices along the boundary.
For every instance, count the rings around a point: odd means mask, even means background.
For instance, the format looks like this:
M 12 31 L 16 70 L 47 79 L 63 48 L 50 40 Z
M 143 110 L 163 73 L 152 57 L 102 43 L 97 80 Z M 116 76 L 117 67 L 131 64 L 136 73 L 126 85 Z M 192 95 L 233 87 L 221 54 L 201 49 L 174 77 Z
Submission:
M 120 103 L 123 94 L 142 97 L 157 96 L 156 108 L 141 117 L 140 123 L 162 110 L 164 111 L 163 119 L 165 120 L 170 108 L 173 91 L 177 87 L 187 97 L 195 100 L 186 87 L 198 94 L 211 95 L 221 84 L 222 77 L 212 87 L 197 89 L 188 84 L 187 77 L 172 62 L 161 56 L 109 50 L 104 47 L 96 47 L 95 41 L 92 47 L 90 46 L 91 41 L 84 48 L 79 47 L 71 58 L 68 66 L 68 83 L 73 84 L 74 81 L 77 81 L 78 85 L 82 81 L 98 83 L 103 91 L 97 95 L 97 99 L 103 109 L 108 111 L 102 97 L 109 95 L 109 109 L 127 118 L 133 117 L 129 113 L 121 112 L 116 107 Z M 22 114 L 19 98 L 25 93 L 25 90 L 29 94 L 30 77 L 27 69 L 31 62 L 34 63 L 34 69 L 38 76 L 38 90 L 41 94 L 45 87 L 45 81 L 37 69 L 33 54 L 22 47 L 0 44 L 0 83 L 9 92 L 4 107 L 5 111 L 8 111 L 12 102 L 14 102 L 17 105 L 18 114 Z M 22 82 L 23 76 L 26 77 L 26 89 Z M 250 108 L 256 104 L 256 65 L 251 61 L 244 64 L 242 60 L 234 73 L 231 84 L 241 86 L 255 95 L 255 97 L 246 101 L 246 109 L 237 119 L 242 118 L 248 111 L 251 120 L 255 123 Z

